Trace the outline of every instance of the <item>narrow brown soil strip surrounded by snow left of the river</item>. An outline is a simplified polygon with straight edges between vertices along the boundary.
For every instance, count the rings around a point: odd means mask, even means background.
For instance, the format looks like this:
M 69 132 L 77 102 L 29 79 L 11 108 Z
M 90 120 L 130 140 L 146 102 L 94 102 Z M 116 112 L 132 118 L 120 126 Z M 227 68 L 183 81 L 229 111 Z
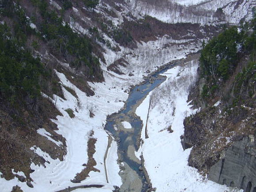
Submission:
M 90 132 L 90 138 L 87 143 L 87 154 L 88 154 L 88 160 L 86 164 L 83 164 L 83 166 L 86 166 L 80 173 L 76 173 L 75 179 L 71 180 L 73 183 L 80 183 L 81 181 L 85 180 L 87 177 L 89 177 L 89 173 L 91 171 L 94 172 L 100 172 L 99 169 L 94 168 L 96 166 L 96 161 L 93 158 L 95 151 L 95 143 L 97 139 L 92 138 L 94 135 L 94 132 Z

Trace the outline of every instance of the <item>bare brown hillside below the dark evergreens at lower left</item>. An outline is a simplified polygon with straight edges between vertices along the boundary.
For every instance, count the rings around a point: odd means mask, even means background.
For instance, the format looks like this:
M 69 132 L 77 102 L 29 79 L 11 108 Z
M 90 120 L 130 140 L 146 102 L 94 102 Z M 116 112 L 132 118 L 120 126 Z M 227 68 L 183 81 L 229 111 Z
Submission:
M 17 104 L 18 105 L 18 104 Z M 18 105 L 13 108 L 7 101 L 0 100 L 0 171 L 6 180 L 17 177 L 20 181 L 33 181 L 30 173 L 31 162 L 35 165 L 45 164 L 45 159 L 34 153 L 34 147 L 39 147 L 53 159 L 63 160 L 65 139 L 57 134 L 56 124 L 49 118 L 55 119 L 60 113 L 52 102 L 46 98 L 34 101 L 32 106 Z M 37 133 L 38 128 L 45 128 L 52 139 L 61 141 L 63 145 L 57 146 L 49 139 Z M 30 149 L 31 147 L 32 150 Z M 35 147 L 35 148 L 36 148 Z M 23 171 L 26 178 L 19 178 L 15 172 Z

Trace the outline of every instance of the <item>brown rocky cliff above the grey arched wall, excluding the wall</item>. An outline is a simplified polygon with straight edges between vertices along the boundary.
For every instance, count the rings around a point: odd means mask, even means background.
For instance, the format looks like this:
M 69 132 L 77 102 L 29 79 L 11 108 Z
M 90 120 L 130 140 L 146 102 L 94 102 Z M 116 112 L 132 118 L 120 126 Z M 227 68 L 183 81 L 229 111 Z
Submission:
M 241 140 L 246 140 L 244 145 L 256 147 L 255 143 L 245 139 L 248 136 L 255 137 L 255 109 L 237 106 L 226 112 L 222 107 L 223 104 L 220 104 L 220 106 L 203 109 L 184 122 L 183 148 L 193 146 L 188 164 L 204 173 L 211 173 L 212 166 L 225 161 L 222 159 L 229 156 L 226 151 L 232 150 L 233 145 L 239 146 Z M 243 146 L 240 148 L 245 151 Z M 241 151 L 239 153 L 242 154 Z M 250 155 L 251 158 L 255 158 L 255 153 Z M 243 166 L 242 159 L 240 162 Z M 253 171 L 255 172 L 255 169 Z M 218 174 L 220 175 L 221 172 L 219 171 Z M 209 175 L 209 178 L 212 177 Z M 216 179 L 213 180 L 216 181 Z

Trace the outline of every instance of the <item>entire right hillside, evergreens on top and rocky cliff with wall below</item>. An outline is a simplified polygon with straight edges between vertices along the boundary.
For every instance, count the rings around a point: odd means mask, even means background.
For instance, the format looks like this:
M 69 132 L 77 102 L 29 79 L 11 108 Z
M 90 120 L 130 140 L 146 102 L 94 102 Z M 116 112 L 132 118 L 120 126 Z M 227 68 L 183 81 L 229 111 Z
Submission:
M 253 183 L 256 172 L 253 166 L 243 166 L 255 164 L 255 29 L 254 18 L 249 28 L 248 23 L 239 30 L 231 27 L 203 45 L 200 79 L 189 98 L 201 111 L 184 121 L 182 141 L 184 149 L 193 147 L 190 166 L 209 173 L 215 182 L 244 189 L 243 176 Z M 237 151 L 230 152 L 233 148 Z M 230 156 L 233 153 L 239 157 Z M 235 172 L 234 166 L 242 167 Z

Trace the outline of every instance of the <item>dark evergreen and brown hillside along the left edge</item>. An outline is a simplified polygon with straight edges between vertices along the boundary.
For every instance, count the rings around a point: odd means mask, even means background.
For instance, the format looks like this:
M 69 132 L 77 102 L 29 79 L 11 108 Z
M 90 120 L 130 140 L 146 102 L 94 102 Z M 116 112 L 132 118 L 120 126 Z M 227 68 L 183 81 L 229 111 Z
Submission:
M 75 76 L 73 82 L 77 81 L 88 96 L 94 92 L 87 81 L 104 79 L 93 55 L 92 40 L 63 24 L 60 12 L 49 2 L 3 0 L 0 14 L 0 172 L 7 180 L 16 176 L 31 186 L 30 173 L 34 170 L 30 164 L 44 166 L 46 162 L 34 153 L 34 147 L 53 159 L 63 160 L 66 154 L 65 139 L 55 132 L 56 124 L 51 121 L 61 113 L 41 94 L 65 99 L 55 70 L 65 72 L 70 79 Z M 62 67 L 60 61 L 70 63 L 69 68 Z M 53 141 L 38 134 L 40 128 Z M 23 171 L 26 178 L 11 169 Z

